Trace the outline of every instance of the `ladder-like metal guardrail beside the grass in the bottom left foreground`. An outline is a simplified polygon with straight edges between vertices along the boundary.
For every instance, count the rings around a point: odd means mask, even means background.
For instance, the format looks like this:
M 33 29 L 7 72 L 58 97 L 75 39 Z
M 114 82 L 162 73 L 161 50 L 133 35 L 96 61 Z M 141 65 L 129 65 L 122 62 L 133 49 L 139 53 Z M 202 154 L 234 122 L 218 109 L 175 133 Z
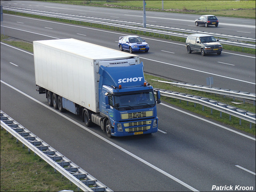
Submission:
M 36 137 L 36 135 L 28 131 L 28 129 L 14 121 L 14 119 L 6 115 L 6 113 L 1 111 L 0 119 L 1 129 L 4 128 L 16 137 L 17 141 L 22 142 L 29 150 L 32 150 L 35 154 L 40 156 L 40 158 L 50 164 L 54 170 L 57 170 L 74 183 L 78 187 L 78 190 L 112 191 L 40 138 Z

